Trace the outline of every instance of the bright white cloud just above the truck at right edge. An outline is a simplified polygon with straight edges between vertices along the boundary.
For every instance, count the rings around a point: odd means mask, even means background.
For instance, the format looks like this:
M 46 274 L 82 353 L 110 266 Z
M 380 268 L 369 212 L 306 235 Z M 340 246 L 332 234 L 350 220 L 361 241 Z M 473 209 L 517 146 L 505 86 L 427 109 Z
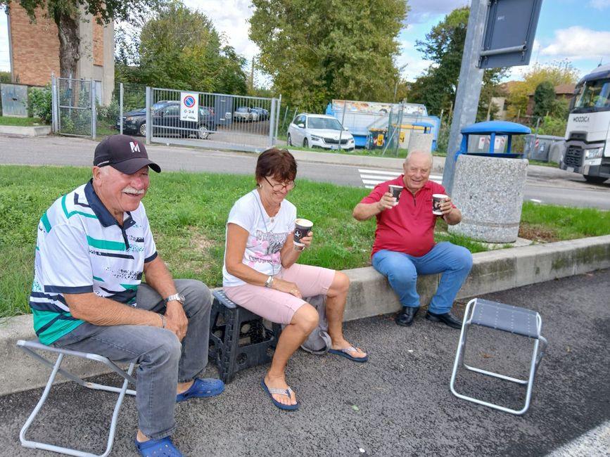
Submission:
M 552 44 L 542 48 L 543 56 L 580 60 L 585 58 L 610 59 L 610 32 L 598 32 L 575 25 L 555 30 Z

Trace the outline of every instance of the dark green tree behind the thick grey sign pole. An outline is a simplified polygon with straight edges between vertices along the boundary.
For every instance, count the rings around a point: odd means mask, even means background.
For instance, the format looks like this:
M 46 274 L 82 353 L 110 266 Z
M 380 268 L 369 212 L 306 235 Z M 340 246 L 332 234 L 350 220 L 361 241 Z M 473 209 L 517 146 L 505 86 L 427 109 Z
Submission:
M 432 27 L 424 41 L 416 41 L 417 50 L 433 63 L 411 85 L 408 98 L 415 103 L 424 103 L 433 114 L 438 115 L 455 104 L 469 14 L 468 7 L 455 9 Z M 491 98 L 502 94 L 500 80 L 505 75 L 505 68 L 492 68 L 483 73 L 478 117 L 485 117 Z

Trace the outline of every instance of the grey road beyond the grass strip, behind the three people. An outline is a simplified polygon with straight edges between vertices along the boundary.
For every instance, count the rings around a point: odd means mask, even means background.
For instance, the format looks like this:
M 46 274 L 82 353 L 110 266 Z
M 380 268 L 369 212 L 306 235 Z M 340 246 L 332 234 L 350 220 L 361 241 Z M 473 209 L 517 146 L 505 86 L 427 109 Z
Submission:
M 0 163 L 90 166 L 96 144 L 90 139 L 62 136 L 31 138 L 0 135 Z M 147 149 L 150 157 L 163 169 L 189 172 L 253 175 L 257 157 L 253 153 L 226 153 L 158 143 L 147 146 Z M 362 166 L 300 161 L 298 176 L 343 186 L 362 186 L 358 168 Z M 605 184 L 588 184 L 575 173 L 530 165 L 524 198 L 554 205 L 610 210 L 609 191 L 610 180 Z

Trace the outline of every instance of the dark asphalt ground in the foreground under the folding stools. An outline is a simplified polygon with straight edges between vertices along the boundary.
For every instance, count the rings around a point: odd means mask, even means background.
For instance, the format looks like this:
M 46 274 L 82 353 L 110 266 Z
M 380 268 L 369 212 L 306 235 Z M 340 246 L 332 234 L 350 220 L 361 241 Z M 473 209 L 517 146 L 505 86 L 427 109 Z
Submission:
M 174 441 L 185 456 L 610 455 L 610 270 L 485 297 L 542 316 L 549 347 L 525 416 L 452 396 L 458 330 L 421 314 L 409 328 L 396 326 L 392 316 L 377 316 L 345 323 L 348 339 L 369 352 L 367 363 L 331 354 L 293 356 L 287 373 L 300 399 L 298 411 L 279 411 L 262 392 L 266 366 L 248 368 L 219 397 L 177 405 Z M 455 308 L 461 317 L 463 303 Z M 473 333 L 469 344 L 474 345 L 471 361 L 504 374 L 521 374 L 530 355 L 529 340 L 498 330 Z M 205 374 L 216 375 L 216 370 L 208 366 Z M 524 392 L 464 373 L 458 386 L 511 406 Z M 41 392 L 0 397 L 1 456 L 56 455 L 19 443 L 20 427 Z M 108 417 L 111 399 L 113 394 L 73 383 L 56 386 L 28 437 L 58 438 L 64 445 L 101 453 L 105 428 L 100 421 Z M 138 455 L 132 443 L 136 424 L 134 399 L 127 398 L 112 456 Z

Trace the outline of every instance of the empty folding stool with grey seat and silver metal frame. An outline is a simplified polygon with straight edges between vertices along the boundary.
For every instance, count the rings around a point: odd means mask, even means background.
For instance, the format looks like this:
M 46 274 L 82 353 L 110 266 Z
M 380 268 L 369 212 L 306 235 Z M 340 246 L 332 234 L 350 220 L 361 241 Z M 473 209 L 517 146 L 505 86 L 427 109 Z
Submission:
M 466 335 L 470 326 L 483 326 L 496 330 L 503 330 L 504 332 L 533 339 L 533 353 L 532 359 L 529 363 L 528 378 L 524 380 L 512 378 L 511 376 L 493 373 L 491 371 L 486 371 L 481 368 L 467 365 L 464 362 L 464 351 L 466 349 Z M 545 337 L 540 335 L 541 329 L 542 318 L 540 318 L 540 314 L 538 314 L 536 311 L 514 307 L 509 304 L 492 302 L 490 300 L 483 300 L 481 298 L 475 298 L 468 302 L 466 305 L 466 312 L 464 313 L 464 321 L 462 322 L 462 333 L 459 335 L 459 344 L 455 354 L 455 362 L 453 363 L 453 372 L 451 374 L 450 388 L 452 394 L 458 398 L 474 401 L 476 404 L 489 406 L 490 408 L 495 408 L 506 413 L 517 415 L 526 413 L 530 406 L 535 373 L 538 365 L 540 364 L 540 360 L 542 359 L 542 355 L 544 355 L 545 348 L 547 347 L 547 340 Z M 512 348 L 507 349 L 511 350 Z M 523 408 L 519 410 L 507 408 L 505 406 L 500 406 L 499 404 L 490 403 L 489 401 L 483 401 L 481 399 L 469 397 L 468 395 L 459 394 L 455 390 L 455 378 L 460 366 L 460 361 L 466 370 L 482 373 L 484 375 L 493 376 L 494 378 L 500 378 L 510 382 L 516 382 L 521 385 L 526 385 L 526 398 Z

